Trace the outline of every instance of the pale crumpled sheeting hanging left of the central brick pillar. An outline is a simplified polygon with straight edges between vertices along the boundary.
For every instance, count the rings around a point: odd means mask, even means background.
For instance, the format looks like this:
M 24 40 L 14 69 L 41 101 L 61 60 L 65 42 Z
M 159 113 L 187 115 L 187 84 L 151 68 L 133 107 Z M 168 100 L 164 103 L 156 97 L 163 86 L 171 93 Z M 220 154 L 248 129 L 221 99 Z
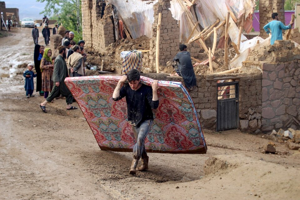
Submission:
M 152 37 L 152 24 L 154 22 L 153 5 L 158 2 L 141 0 L 106 0 L 113 4 L 118 11 L 119 16 L 130 32 L 133 39 L 143 35 Z M 147 2 L 151 2 L 147 4 Z

